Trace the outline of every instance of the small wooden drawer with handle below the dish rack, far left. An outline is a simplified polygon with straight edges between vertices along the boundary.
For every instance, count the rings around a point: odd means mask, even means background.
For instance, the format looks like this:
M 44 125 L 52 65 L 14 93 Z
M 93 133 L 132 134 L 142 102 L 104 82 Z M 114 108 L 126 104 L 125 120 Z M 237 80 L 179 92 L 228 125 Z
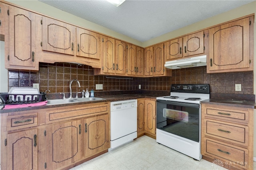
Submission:
M 7 130 L 37 126 L 37 113 L 7 117 Z

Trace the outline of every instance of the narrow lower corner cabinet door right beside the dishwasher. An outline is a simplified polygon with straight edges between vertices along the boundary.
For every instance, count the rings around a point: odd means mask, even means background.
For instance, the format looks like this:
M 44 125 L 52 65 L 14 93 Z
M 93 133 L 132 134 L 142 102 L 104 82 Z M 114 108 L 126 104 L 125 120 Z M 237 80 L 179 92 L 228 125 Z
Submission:
M 137 103 L 137 135 L 144 133 L 144 125 L 145 125 L 145 114 L 144 114 L 144 99 L 138 99 Z

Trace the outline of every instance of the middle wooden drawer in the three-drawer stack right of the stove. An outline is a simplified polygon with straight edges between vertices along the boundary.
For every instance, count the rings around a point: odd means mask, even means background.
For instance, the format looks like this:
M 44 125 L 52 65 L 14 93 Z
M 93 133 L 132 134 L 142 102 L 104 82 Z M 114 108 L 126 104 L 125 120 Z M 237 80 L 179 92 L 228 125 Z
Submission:
M 225 123 L 221 121 L 205 120 L 206 135 L 213 135 L 222 139 L 230 139 L 235 142 L 246 143 L 248 127 Z

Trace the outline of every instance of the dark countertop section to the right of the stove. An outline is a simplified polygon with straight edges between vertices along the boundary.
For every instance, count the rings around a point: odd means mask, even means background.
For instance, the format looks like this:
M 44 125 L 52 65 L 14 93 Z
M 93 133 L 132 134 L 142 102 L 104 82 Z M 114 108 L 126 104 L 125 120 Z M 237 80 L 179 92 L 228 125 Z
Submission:
M 256 109 L 256 103 L 254 101 L 208 99 L 201 101 L 201 103 Z

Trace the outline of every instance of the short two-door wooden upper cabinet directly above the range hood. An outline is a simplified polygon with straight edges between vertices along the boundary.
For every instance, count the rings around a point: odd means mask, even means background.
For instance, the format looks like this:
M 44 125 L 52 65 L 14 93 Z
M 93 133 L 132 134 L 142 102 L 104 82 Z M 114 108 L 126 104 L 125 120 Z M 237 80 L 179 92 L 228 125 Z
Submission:
M 204 53 L 204 31 L 164 43 L 166 60 L 181 59 Z

